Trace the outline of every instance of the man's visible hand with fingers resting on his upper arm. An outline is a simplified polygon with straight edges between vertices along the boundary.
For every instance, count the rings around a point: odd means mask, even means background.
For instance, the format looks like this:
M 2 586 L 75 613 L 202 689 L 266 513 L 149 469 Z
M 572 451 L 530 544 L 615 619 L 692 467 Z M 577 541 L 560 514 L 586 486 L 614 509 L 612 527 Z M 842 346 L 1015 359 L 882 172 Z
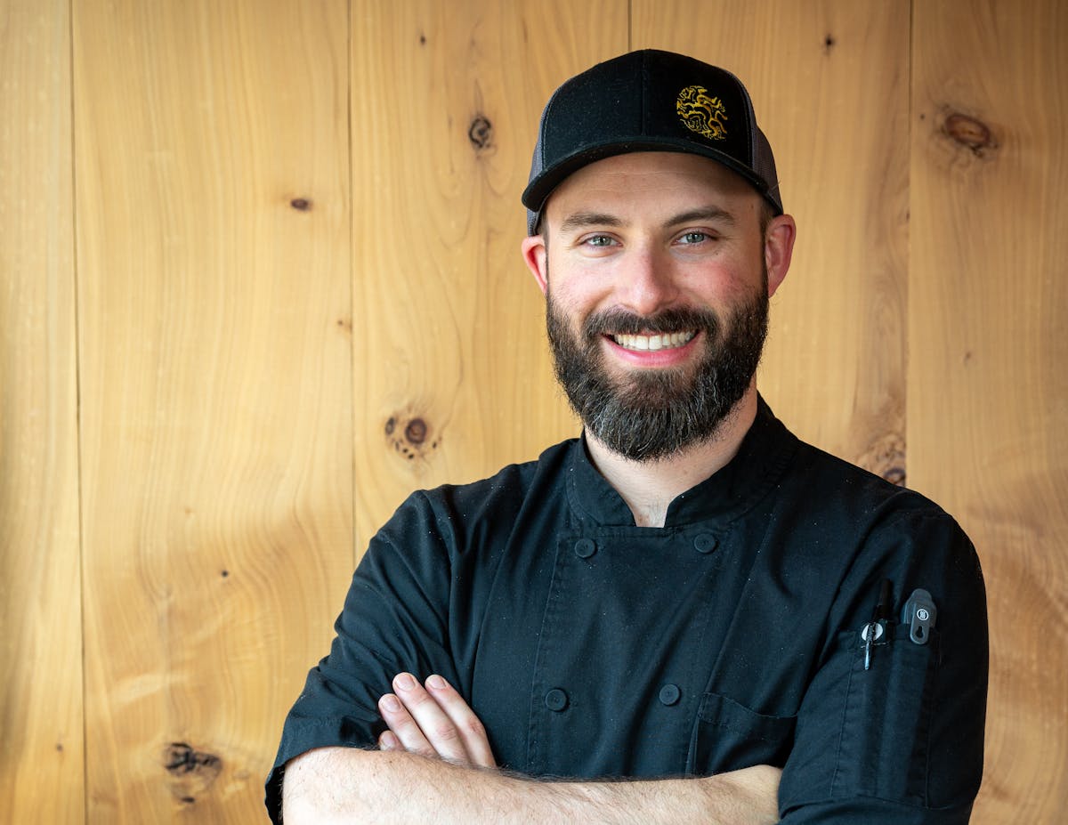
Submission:
M 444 679 L 435 674 L 425 687 L 411 673 L 393 679 L 395 694 L 378 700 L 389 726 L 378 737 L 381 750 L 407 750 L 458 765 L 496 767 L 482 720 Z

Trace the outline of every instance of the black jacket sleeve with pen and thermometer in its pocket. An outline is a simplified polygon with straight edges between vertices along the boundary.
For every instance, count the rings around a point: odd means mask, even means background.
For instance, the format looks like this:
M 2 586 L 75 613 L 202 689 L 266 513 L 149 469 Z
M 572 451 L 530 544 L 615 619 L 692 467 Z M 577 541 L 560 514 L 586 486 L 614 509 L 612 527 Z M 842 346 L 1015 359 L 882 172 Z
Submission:
M 968 536 L 944 513 L 873 531 L 832 609 L 830 641 L 798 712 L 780 784 L 783 825 L 964 825 L 983 775 L 986 591 Z M 861 631 L 883 578 L 896 621 Z M 925 643 L 901 621 L 914 589 L 937 612 Z

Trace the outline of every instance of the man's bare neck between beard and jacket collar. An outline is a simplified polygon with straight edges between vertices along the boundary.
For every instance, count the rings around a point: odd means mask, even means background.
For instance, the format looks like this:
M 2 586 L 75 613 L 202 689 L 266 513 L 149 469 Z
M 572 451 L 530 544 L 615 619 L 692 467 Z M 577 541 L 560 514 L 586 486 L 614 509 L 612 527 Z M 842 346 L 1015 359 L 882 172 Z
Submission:
M 712 435 L 665 458 L 641 462 L 627 458 L 588 432 L 586 443 L 594 466 L 627 502 L 634 514 L 634 524 L 663 527 L 669 504 L 734 458 L 755 418 L 756 387 L 753 386 Z

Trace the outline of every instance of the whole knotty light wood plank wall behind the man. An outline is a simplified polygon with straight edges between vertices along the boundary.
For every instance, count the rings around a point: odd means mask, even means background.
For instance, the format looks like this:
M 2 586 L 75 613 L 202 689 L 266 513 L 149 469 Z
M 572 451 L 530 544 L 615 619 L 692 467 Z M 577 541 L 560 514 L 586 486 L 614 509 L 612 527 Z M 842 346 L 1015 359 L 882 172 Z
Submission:
M 1057 0 L 0 0 L 0 797 L 263 821 L 417 486 L 576 424 L 518 254 L 537 115 L 628 48 L 750 84 L 798 219 L 760 384 L 987 572 L 974 822 L 1068 807 Z

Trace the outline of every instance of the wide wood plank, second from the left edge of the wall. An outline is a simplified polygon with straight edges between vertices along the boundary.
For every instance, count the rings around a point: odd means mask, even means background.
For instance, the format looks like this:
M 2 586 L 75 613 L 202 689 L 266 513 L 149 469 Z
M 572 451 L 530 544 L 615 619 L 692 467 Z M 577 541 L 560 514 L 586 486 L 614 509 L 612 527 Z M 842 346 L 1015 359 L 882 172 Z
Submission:
M 88 811 L 247 823 L 352 566 L 344 0 L 75 0 Z

